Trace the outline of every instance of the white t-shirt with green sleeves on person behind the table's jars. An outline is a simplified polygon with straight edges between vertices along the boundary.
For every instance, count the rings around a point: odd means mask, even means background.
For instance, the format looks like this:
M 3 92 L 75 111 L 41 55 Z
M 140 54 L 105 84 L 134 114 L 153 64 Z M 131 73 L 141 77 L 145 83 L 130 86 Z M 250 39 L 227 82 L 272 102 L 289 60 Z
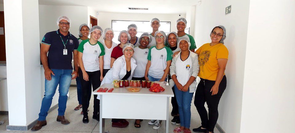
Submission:
M 167 61 L 171 61 L 172 56 L 171 49 L 166 46 L 162 49 L 157 49 L 156 46 L 151 47 L 148 51 L 148 60 L 151 61 L 148 75 L 157 79 L 162 78 L 167 67 Z

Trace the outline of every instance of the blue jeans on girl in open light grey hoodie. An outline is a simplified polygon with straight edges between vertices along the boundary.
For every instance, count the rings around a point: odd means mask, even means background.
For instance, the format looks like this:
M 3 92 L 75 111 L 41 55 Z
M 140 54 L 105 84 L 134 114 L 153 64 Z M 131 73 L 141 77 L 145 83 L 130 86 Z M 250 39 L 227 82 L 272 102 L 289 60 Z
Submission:
M 194 93 L 179 91 L 177 86 L 174 85 L 176 101 L 178 104 L 180 126 L 190 128 L 191 126 L 191 100 Z

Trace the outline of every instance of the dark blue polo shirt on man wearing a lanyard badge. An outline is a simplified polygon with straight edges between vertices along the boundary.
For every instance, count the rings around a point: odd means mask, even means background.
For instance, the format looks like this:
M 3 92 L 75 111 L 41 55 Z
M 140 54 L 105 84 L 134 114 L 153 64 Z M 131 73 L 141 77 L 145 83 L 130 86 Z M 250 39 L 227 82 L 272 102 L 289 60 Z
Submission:
M 62 43 L 61 38 L 65 44 Z M 78 39 L 68 33 L 68 35 L 64 36 L 57 31 L 48 32 L 44 35 L 42 43 L 50 45 L 48 51 L 48 66 L 49 69 L 73 69 L 72 67 L 72 59 L 73 59 L 73 50 L 77 50 L 79 46 Z M 63 49 L 66 48 L 68 50 L 68 55 L 63 55 Z

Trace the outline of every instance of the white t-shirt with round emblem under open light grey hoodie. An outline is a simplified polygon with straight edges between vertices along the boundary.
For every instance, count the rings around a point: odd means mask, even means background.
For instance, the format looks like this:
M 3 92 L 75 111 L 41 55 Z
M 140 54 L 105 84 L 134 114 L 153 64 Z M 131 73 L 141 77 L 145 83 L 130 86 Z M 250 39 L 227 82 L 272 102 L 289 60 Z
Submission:
M 179 53 L 180 54 L 180 53 Z M 190 69 L 192 69 L 191 56 L 189 55 L 185 61 L 181 61 L 180 55 L 175 62 L 175 74 L 178 82 L 184 86 L 190 79 Z

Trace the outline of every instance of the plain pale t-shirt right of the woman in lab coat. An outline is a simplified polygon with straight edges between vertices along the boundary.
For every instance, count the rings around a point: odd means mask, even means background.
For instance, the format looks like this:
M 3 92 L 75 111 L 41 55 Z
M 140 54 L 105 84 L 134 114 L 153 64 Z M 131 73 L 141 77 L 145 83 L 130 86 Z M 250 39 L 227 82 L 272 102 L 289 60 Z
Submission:
M 139 47 L 135 47 L 134 54 L 132 57 L 135 59 L 137 65 L 134 70 L 133 77 L 144 77 L 145 68 L 148 64 L 148 48 L 140 49 Z

